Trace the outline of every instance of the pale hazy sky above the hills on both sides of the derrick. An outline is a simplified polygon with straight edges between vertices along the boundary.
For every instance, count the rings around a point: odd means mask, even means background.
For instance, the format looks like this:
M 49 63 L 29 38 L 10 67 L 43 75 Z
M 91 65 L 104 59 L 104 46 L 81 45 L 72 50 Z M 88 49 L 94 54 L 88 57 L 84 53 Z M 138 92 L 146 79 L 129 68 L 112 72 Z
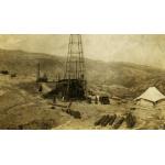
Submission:
M 165 68 L 165 35 L 81 35 L 85 57 Z M 0 48 L 66 56 L 69 35 L 0 35 Z

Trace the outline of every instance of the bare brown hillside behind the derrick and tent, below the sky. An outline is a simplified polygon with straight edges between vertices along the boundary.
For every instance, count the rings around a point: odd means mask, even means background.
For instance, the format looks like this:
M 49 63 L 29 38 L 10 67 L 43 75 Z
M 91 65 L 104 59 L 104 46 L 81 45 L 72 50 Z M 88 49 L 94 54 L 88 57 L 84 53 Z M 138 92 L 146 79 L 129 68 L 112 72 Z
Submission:
M 9 70 L 35 79 L 36 64 L 50 79 L 63 77 L 65 57 L 43 53 L 0 50 L 0 70 Z M 88 89 L 121 98 L 135 98 L 150 86 L 165 94 L 165 70 L 131 63 L 105 63 L 86 59 Z M 21 82 L 20 82 L 21 84 Z

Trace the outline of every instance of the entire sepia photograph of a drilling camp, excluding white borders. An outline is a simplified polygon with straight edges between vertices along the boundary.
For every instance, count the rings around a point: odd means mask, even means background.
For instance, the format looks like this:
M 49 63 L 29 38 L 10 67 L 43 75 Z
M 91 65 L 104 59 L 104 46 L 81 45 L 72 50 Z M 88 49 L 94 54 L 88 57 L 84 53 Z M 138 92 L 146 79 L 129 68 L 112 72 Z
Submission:
M 164 130 L 165 35 L 1 34 L 1 130 Z

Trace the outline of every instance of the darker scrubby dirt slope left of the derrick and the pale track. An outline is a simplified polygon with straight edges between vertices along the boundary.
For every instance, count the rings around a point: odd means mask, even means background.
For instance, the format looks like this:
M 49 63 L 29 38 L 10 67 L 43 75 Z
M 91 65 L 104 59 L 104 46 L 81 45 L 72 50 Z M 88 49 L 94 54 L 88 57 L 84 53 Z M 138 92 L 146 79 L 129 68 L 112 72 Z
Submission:
M 34 82 L 32 89 L 32 80 L 0 75 L 0 129 L 52 129 L 69 118 L 52 109 Z M 31 88 L 26 88 L 26 84 Z

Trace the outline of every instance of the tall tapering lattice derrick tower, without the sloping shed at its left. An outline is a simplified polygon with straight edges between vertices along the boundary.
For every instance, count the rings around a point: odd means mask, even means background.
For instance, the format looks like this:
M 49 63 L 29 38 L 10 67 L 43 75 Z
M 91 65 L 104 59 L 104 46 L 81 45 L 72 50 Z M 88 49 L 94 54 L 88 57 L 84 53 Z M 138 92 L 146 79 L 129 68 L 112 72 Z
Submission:
M 86 95 L 85 58 L 80 34 L 70 34 L 66 61 L 65 96 L 68 99 L 84 99 Z

